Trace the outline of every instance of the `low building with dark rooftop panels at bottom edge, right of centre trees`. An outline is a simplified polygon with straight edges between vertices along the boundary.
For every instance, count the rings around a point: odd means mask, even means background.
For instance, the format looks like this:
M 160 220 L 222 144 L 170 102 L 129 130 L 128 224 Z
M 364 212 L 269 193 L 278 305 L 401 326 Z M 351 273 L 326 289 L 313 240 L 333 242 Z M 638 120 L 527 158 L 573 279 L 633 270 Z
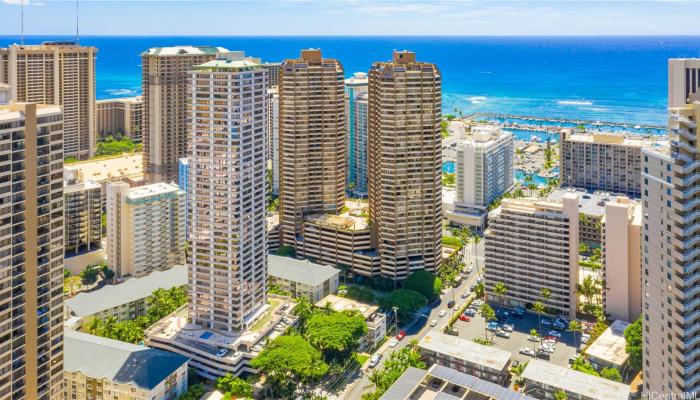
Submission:
M 379 400 L 535 400 L 526 394 L 439 364 L 408 367 Z

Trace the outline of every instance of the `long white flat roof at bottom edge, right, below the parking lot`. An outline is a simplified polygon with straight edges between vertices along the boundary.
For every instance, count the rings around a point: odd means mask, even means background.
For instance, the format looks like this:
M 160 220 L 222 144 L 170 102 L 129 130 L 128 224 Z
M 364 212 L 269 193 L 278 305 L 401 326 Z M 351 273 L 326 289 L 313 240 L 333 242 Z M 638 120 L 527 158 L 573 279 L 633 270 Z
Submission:
M 521 376 L 550 388 L 562 389 L 592 399 L 628 400 L 630 395 L 630 388 L 625 384 L 536 358 L 528 362 Z

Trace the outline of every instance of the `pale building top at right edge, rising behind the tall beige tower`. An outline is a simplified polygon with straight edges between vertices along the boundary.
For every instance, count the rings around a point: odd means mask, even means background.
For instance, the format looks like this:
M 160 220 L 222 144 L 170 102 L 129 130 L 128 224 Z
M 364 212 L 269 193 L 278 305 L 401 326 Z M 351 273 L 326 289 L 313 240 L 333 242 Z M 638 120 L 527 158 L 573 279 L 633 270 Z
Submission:
M 668 60 L 668 106 L 682 107 L 700 89 L 700 58 Z M 697 97 L 696 97 L 697 98 Z

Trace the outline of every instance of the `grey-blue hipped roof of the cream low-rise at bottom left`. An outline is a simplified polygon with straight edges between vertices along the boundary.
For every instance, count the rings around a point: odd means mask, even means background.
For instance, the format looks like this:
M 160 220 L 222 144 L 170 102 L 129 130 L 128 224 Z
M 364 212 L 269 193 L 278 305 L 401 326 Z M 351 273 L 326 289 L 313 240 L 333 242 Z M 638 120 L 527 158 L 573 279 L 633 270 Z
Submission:
M 189 358 L 70 329 L 64 330 L 63 368 L 94 379 L 153 390 Z

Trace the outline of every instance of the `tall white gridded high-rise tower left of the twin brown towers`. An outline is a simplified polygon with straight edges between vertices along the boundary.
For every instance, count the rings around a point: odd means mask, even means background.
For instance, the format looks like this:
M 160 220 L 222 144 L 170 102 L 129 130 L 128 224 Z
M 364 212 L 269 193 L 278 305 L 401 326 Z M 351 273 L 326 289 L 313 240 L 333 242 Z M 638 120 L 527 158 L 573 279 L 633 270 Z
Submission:
M 230 52 L 189 85 L 190 321 L 236 333 L 267 298 L 267 70 Z

